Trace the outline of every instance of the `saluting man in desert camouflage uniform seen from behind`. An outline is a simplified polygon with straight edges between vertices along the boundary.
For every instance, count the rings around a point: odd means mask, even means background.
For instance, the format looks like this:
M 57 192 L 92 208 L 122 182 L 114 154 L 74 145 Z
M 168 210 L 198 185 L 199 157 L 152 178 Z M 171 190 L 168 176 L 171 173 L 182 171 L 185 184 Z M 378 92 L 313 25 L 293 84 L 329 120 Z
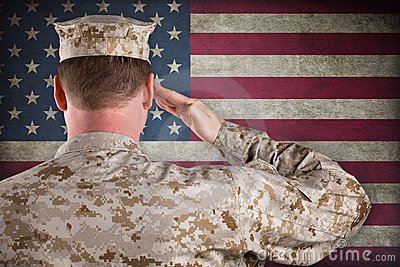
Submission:
M 357 233 L 371 205 L 335 161 L 153 84 L 154 27 L 100 15 L 55 24 L 68 140 L 1 182 L 0 264 L 310 265 Z M 151 161 L 139 135 L 153 98 L 231 166 Z

